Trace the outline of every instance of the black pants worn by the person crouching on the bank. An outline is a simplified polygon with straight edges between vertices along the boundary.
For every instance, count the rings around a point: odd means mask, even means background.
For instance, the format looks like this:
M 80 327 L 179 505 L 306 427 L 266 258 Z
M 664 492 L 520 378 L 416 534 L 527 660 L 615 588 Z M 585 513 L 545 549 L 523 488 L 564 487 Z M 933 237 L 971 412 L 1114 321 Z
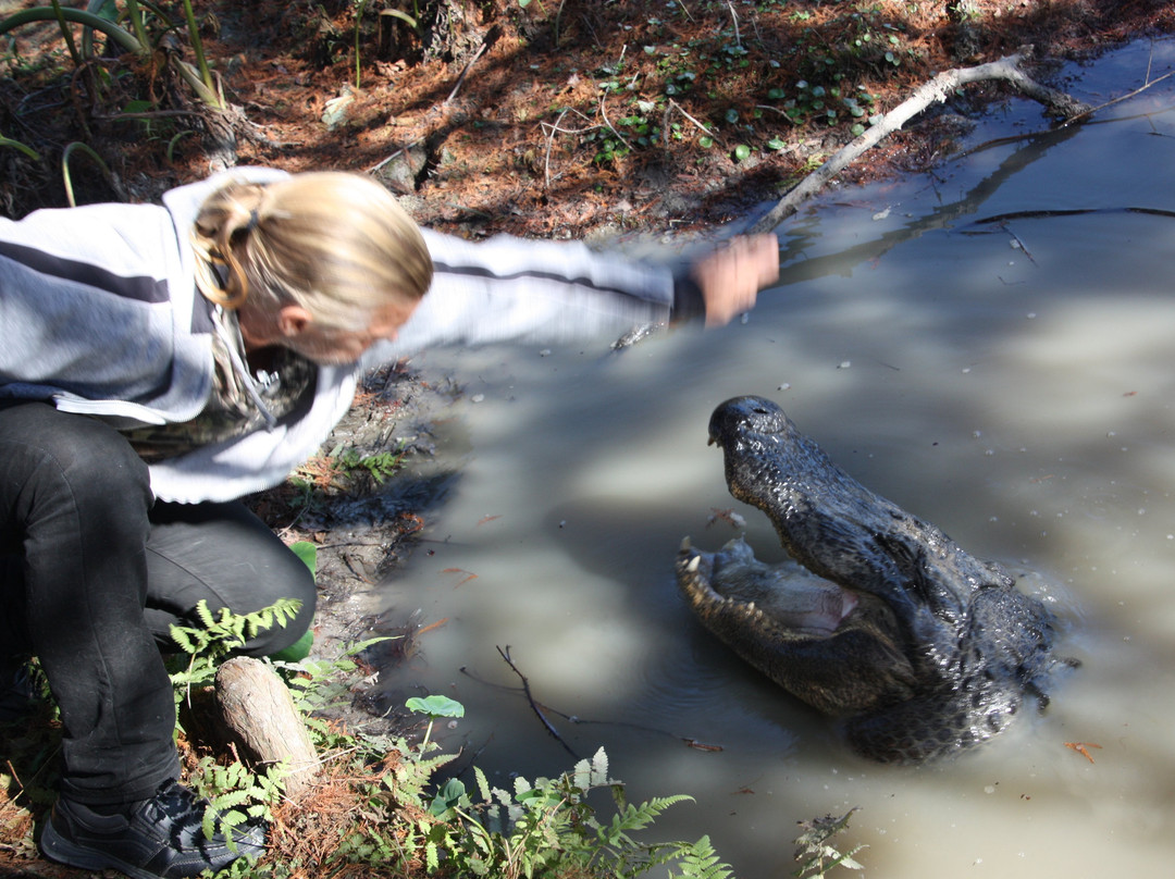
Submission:
M 314 616 L 306 565 L 242 504 L 153 503 L 147 467 L 108 425 L 46 403 L 0 408 L 0 650 L 39 657 L 65 726 L 62 793 L 149 797 L 179 761 L 160 657 L 172 623 L 302 602 L 243 653 L 289 646 Z

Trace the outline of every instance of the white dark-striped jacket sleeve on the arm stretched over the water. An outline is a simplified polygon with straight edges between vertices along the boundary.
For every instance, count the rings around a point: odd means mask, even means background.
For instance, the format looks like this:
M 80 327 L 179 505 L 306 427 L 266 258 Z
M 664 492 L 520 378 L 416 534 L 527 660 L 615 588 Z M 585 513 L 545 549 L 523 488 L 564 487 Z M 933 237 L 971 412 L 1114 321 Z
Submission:
M 579 242 L 499 235 L 474 243 L 423 229 L 432 287 L 395 342 L 364 365 L 443 344 L 555 343 L 617 335 L 697 311 L 697 288 L 664 262 L 640 262 Z

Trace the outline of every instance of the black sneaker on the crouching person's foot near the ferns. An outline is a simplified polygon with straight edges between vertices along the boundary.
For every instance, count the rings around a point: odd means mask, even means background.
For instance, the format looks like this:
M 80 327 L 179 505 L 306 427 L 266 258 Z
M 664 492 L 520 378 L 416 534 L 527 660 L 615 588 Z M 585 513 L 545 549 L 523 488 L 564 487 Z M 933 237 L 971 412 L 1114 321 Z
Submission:
M 223 870 L 237 858 L 264 851 L 260 824 L 233 832 L 236 851 L 221 833 L 204 838 L 207 803 L 176 781 L 164 781 L 150 799 L 107 816 L 68 799 L 58 800 L 41 832 L 46 857 L 81 870 L 120 870 L 135 879 L 180 879 Z

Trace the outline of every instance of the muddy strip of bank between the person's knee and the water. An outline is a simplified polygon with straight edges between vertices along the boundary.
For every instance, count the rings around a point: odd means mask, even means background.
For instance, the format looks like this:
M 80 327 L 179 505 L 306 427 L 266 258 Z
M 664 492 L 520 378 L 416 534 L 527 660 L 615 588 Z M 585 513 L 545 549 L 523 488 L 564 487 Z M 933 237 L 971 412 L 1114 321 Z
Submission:
M 336 659 L 360 642 L 389 638 L 360 656 L 371 675 L 411 655 L 417 624 L 409 612 L 380 616 L 387 602 L 376 588 L 395 576 L 459 478 L 431 463 L 435 424 L 450 417 L 459 395 L 455 380 L 409 363 L 372 370 L 318 454 L 284 484 L 247 498 L 287 544 L 316 546 L 313 657 Z M 337 714 L 365 725 L 382 714 L 364 698 L 372 682 L 356 680 L 352 704 L 340 705 Z

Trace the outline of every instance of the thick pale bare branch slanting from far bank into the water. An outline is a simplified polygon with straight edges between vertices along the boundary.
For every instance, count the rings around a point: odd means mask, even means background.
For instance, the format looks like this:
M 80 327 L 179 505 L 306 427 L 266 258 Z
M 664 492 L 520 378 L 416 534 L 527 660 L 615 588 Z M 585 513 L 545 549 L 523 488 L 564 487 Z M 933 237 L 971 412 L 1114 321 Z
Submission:
M 851 143 L 839 149 L 833 156 L 808 174 L 797 186 L 792 187 L 783 199 L 761 217 L 751 229 L 752 233 L 771 232 L 786 217 L 794 214 L 799 206 L 819 192 L 825 183 L 837 174 L 848 167 L 865 150 L 877 146 L 881 140 L 893 132 L 899 130 L 913 116 L 918 115 L 932 103 L 945 101 L 952 92 L 972 82 L 983 80 L 1003 80 L 1010 82 L 1022 94 L 1034 101 L 1043 103 L 1046 107 L 1063 116 L 1067 120 L 1083 116 L 1092 112 L 1092 108 L 1081 101 L 1070 98 L 1065 92 L 1042 86 L 1020 69 L 1020 62 L 1025 60 L 1028 49 L 1022 49 L 1014 55 L 991 61 L 975 67 L 959 67 L 945 71 L 929 82 L 919 86 L 914 94 L 886 113 L 877 125 L 872 126 L 862 135 Z

